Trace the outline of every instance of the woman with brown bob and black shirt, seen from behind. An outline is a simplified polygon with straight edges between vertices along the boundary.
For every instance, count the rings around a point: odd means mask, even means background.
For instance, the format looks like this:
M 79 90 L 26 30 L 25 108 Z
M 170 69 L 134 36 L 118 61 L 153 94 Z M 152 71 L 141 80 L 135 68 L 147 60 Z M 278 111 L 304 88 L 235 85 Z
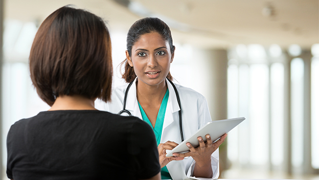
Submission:
M 111 42 L 104 21 L 62 7 L 39 27 L 30 73 L 51 108 L 13 124 L 7 138 L 10 179 L 159 179 L 154 133 L 135 117 L 94 107 L 110 100 Z

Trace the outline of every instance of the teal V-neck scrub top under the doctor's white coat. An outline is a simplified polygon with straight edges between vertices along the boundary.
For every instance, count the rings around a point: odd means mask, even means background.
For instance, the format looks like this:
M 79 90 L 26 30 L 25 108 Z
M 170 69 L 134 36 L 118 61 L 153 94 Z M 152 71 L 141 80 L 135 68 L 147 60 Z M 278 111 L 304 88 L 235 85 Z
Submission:
M 159 107 L 154 128 L 152 126 L 152 123 L 149 121 L 148 117 L 146 116 L 144 109 L 142 108 L 141 104 L 139 103 L 140 111 L 141 111 L 141 114 L 142 114 L 142 119 L 143 119 L 143 121 L 147 122 L 153 128 L 154 134 L 155 134 L 155 138 L 156 138 L 156 142 L 157 142 L 157 146 L 161 142 L 162 130 L 163 130 L 163 124 L 164 124 L 164 117 L 165 117 L 168 97 L 169 97 L 169 91 L 167 89 L 167 91 L 165 93 L 165 96 L 164 96 L 164 98 L 162 100 L 161 107 Z M 172 177 L 169 174 L 166 166 L 164 166 L 162 168 L 161 176 L 162 176 L 162 179 L 172 179 Z

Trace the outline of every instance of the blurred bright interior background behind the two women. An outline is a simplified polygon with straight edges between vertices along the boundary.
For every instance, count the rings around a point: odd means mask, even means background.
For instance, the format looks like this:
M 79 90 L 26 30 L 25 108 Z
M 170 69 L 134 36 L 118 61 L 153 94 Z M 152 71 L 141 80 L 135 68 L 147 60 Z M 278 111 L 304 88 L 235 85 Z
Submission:
M 318 0 L 0 0 L 0 179 L 10 126 L 49 109 L 29 76 L 35 33 L 69 4 L 106 20 L 113 86 L 133 22 L 170 26 L 174 81 L 203 94 L 213 120 L 246 118 L 220 147 L 220 178 L 319 179 Z

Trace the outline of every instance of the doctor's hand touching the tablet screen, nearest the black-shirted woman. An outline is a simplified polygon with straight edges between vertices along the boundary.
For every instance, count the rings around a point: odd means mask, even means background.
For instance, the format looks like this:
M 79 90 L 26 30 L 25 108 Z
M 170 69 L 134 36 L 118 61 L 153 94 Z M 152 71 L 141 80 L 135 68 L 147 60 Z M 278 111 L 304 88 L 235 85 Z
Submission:
M 158 154 L 159 154 L 159 164 L 161 164 L 161 168 L 166 166 L 171 161 L 180 161 L 184 160 L 182 157 L 166 157 L 166 150 L 172 150 L 174 147 L 176 147 L 178 144 L 175 142 L 167 141 L 166 143 L 161 143 L 157 146 Z

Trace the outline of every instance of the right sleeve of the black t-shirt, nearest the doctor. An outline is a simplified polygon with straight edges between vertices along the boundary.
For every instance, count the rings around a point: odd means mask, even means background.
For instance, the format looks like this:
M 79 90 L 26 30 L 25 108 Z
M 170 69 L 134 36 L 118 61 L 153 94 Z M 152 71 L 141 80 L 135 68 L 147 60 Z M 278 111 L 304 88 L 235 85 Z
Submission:
M 132 125 L 128 138 L 128 152 L 136 157 L 139 166 L 139 178 L 150 178 L 161 171 L 156 139 L 152 128 L 139 119 Z

